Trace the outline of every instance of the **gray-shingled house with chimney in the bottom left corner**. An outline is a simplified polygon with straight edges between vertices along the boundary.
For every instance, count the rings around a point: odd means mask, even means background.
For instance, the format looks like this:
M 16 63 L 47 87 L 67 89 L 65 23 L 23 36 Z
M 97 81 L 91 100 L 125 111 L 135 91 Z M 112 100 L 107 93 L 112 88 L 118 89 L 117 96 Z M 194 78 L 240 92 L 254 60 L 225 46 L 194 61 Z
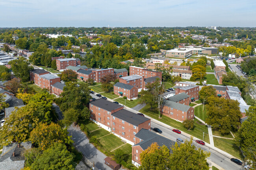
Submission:
M 24 168 L 24 151 L 32 147 L 31 142 L 11 143 L 3 147 L 0 170 L 20 170 Z

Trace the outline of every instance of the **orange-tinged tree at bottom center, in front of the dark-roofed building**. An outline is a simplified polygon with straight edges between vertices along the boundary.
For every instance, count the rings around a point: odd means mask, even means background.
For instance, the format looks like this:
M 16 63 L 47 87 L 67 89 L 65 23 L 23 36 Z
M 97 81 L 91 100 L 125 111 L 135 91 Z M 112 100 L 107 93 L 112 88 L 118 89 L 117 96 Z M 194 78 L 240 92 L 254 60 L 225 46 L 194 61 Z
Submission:
M 139 170 L 166 170 L 170 169 L 170 150 L 165 146 L 152 143 L 140 154 L 141 166 Z

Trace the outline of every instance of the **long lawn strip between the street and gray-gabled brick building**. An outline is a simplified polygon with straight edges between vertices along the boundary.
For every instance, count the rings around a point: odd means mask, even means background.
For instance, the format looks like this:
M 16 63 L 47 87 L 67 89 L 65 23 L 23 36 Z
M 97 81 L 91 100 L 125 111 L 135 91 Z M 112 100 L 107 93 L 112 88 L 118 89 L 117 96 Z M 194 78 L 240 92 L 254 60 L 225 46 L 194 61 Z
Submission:
M 148 105 L 145 106 L 143 109 L 139 110 L 139 112 L 141 112 L 145 115 L 148 115 L 148 116 L 152 117 L 153 119 L 161 121 L 169 126 L 177 128 L 179 130 L 182 130 L 183 132 L 186 132 L 186 133 L 188 133 L 192 136 L 195 136 L 199 139 L 203 139 L 203 132 L 204 132 L 205 133 L 204 141 L 207 143 L 210 143 L 207 126 L 198 124 L 197 119 L 195 119 L 195 126 L 194 126 L 193 130 L 188 131 L 186 128 L 183 127 L 181 122 L 175 121 L 174 119 L 171 119 L 167 116 L 161 115 L 162 119 L 158 119 L 158 111 L 150 110 L 150 106 L 148 106 Z

